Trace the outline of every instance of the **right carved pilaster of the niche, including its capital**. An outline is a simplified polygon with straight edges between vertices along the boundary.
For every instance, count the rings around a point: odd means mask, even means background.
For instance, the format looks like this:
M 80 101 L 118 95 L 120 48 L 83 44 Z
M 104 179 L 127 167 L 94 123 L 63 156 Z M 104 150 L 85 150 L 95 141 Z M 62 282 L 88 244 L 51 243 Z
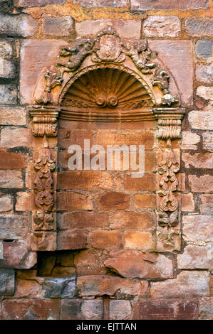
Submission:
M 154 109 L 157 119 L 157 251 L 180 250 L 180 142 L 185 109 Z

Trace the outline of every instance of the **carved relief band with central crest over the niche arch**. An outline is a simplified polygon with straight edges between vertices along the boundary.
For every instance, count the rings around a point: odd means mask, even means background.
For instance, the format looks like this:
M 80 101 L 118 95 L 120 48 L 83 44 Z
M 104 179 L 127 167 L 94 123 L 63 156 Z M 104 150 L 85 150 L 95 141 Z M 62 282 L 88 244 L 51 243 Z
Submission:
M 137 70 L 143 75 L 152 75 L 152 86 L 162 90 L 162 104 L 177 104 L 178 99 L 172 97 L 169 91 L 170 76 L 157 62 L 157 53 L 150 50 L 145 40 L 121 40 L 110 26 L 101 31 L 96 38 L 77 38 L 70 46 L 61 49 L 59 62 L 51 66 L 46 72 L 46 88 L 38 104 L 51 104 L 53 102 L 51 90 L 62 85 L 65 72 L 73 72 L 91 55 L 93 63 L 123 63 L 126 57 L 133 60 Z

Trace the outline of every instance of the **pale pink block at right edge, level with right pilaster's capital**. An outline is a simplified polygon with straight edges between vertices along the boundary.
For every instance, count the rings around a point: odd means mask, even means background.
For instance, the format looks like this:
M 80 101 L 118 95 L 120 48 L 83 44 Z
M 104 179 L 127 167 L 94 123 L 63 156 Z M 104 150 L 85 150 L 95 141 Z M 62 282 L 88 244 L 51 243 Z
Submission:
M 213 114 L 209 112 L 201 112 L 199 110 L 189 112 L 189 123 L 192 129 L 213 130 Z

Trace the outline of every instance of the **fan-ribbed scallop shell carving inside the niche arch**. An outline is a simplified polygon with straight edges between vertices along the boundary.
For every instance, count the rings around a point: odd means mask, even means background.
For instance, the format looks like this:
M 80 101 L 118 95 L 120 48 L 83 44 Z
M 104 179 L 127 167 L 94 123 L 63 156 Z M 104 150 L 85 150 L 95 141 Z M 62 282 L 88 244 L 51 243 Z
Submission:
M 154 105 L 152 92 L 133 74 L 117 68 L 98 68 L 78 77 L 62 106 L 89 109 L 137 109 Z

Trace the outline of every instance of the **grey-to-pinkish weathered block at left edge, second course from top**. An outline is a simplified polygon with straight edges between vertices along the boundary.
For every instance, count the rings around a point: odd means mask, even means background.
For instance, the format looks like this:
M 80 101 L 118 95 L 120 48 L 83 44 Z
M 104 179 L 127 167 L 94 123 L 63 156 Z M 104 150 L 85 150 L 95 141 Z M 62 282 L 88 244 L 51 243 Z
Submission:
M 38 32 L 38 22 L 29 15 L 0 14 L 1 35 L 33 36 Z

